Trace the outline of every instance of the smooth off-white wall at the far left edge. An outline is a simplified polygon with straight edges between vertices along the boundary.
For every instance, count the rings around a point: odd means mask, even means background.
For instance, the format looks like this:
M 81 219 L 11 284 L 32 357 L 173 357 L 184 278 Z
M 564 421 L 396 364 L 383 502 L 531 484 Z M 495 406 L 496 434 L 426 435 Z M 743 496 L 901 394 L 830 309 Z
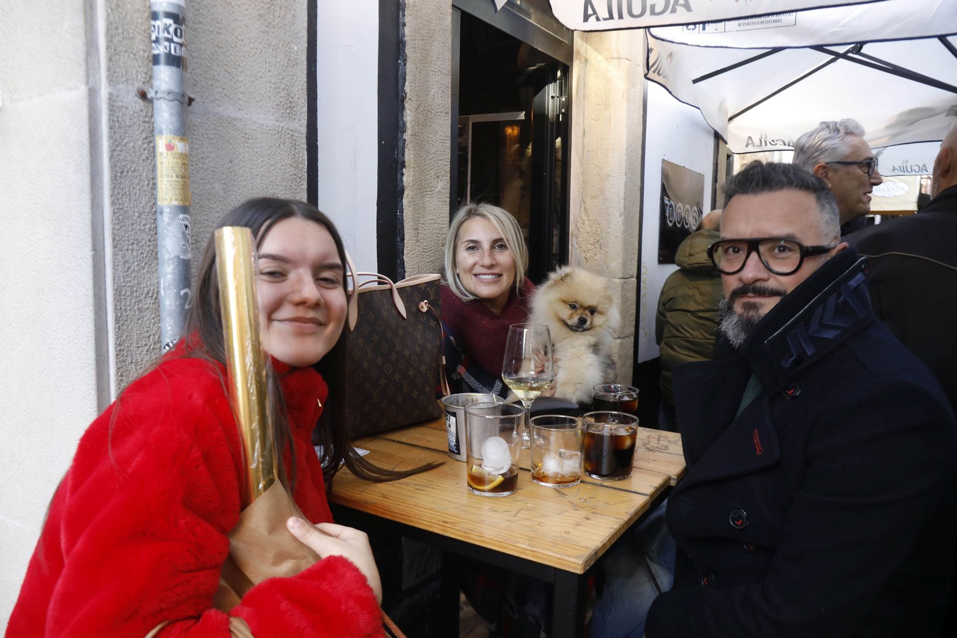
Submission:
M 0 634 L 97 414 L 83 3 L 5 3 L 0 106 Z

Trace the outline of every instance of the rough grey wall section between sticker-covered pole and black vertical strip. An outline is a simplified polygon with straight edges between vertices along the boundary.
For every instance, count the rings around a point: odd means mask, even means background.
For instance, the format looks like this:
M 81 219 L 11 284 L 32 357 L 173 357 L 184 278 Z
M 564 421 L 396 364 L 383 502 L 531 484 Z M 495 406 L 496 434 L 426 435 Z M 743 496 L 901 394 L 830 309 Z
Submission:
M 306 197 L 306 3 L 190 2 L 187 30 L 195 272 L 237 204 Z

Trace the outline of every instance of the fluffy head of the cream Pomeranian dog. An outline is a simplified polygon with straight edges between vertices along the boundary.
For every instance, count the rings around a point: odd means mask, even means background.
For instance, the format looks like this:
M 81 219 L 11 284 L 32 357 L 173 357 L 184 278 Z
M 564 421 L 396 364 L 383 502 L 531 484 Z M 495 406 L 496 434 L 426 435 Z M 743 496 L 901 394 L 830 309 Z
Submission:
M 572 332 L 605 328 L 614 303 L 607 279 L 580 270 L 552 278 L 537 295 L 544 297 L 554 321 Z

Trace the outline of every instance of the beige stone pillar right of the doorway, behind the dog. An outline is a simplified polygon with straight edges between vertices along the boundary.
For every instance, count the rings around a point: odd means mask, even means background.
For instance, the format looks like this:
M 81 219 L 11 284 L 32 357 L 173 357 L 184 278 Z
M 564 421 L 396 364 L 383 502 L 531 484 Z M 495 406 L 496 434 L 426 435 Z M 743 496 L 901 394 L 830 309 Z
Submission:
M 634 365 L 644 47 L 640 31 L 575 33 L 571 79 L 570 262 L 613 279 L 624 383 Z

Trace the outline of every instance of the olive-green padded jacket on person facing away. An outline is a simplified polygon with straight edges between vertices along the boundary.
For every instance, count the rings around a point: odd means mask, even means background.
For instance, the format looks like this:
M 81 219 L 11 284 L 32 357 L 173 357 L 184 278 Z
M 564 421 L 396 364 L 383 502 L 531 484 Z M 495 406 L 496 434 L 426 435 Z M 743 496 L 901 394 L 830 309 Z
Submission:
M 722 298 L 721 274 L 708 258 L 718 231 L 693 232 L 678 247 L 679 270 L 665 279 L 658 297 L 655 341 L 661 348 L 661 395 L 674 405 L 671 368 L 678 363 L 711 359 Z

